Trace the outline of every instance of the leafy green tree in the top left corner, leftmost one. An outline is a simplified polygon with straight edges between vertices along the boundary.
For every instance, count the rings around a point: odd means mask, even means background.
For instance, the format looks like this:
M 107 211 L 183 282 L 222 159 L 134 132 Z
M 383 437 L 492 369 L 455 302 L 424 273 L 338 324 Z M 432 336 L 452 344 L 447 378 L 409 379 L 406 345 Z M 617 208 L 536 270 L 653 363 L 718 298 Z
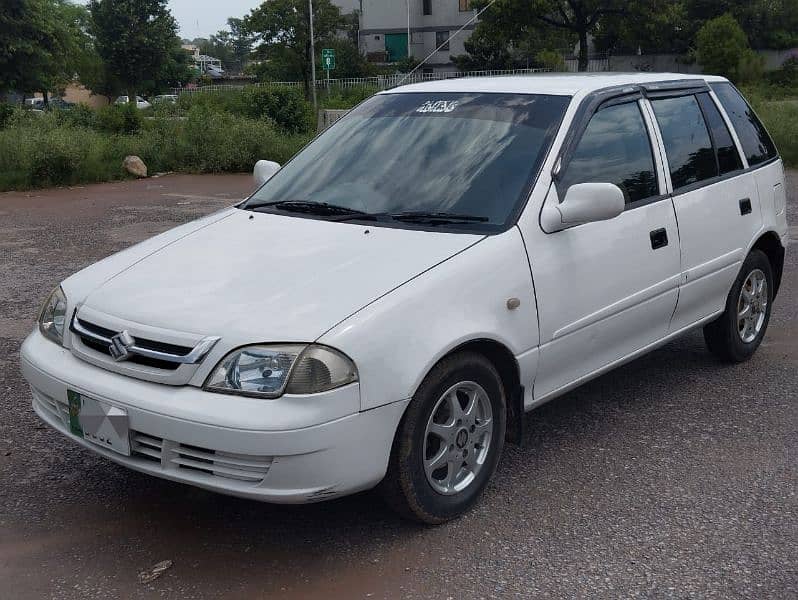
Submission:
M 66 0 L 8 0 L 0 11 L 0 91 L 42 92 L 72 80 L 85 44 L 85 9 Z

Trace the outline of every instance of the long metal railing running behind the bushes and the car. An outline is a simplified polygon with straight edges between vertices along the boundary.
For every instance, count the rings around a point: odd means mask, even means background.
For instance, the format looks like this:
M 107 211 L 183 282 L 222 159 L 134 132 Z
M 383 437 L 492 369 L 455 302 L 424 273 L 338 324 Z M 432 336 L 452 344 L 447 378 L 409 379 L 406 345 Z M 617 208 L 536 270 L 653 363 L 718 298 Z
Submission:
M 378 77 L 353 77 L 348 79 L 319 79 L 316 81 L 317 89 L 351 89 L 370 87 L 376 90 L 389 90 L 400 85 L 421 83 L 424 81 L 439 81 L 443 79 L 461 79 L 464 77 L 498 77 L 508 75 L 531 75 L 545 73 L 548 69 L 513 69 L 505 71 L 446 71 L 440 73 L 396 73 L 395 75 L 380 75 Z M 173 94 L 192 94 L 201 92 L 228 92 L 249 87 L 304 87 L 302 81 L 261 81 L 251 84 L 222 84 L 205 85 L 197 88 L 174 88 Z

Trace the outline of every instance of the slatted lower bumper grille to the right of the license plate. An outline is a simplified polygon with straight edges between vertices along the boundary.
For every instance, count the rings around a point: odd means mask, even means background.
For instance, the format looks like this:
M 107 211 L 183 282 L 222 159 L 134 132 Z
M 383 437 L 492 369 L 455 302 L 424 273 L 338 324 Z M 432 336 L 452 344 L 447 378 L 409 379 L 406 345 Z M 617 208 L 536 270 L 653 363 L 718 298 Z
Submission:
M 165 441 L 137 431 L 131 431 L 130 440 L 133 456 L 161 463 L 164 469 L 177 468 L 253 485 L 265 479 L 273 460 L 271 456 L 235 454 Z

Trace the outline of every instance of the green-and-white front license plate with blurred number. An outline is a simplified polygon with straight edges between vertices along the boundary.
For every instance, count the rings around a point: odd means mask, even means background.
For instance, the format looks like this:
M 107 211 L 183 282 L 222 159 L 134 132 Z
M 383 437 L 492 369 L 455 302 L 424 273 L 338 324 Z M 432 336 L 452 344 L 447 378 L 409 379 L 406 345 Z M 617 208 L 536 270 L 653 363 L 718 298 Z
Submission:
M 108 450 L 130 456 L 127 411 L 102 400 L 67 390 L 69 430 Z

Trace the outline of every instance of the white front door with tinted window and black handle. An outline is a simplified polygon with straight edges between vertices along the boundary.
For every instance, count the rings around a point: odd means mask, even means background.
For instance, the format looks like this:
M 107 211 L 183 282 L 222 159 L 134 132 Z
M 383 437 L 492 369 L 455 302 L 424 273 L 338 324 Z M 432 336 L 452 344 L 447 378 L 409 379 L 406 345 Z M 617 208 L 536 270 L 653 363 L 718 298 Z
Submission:
M 614 183 L 625 212 L 552 233 L 522 223 L 540 326 L 535 402 L 661 340 L 676 307 L 679 233 L 650 116 L 639 96 L 615 102 L 592 116 L 545 202 L 576 183 Z

